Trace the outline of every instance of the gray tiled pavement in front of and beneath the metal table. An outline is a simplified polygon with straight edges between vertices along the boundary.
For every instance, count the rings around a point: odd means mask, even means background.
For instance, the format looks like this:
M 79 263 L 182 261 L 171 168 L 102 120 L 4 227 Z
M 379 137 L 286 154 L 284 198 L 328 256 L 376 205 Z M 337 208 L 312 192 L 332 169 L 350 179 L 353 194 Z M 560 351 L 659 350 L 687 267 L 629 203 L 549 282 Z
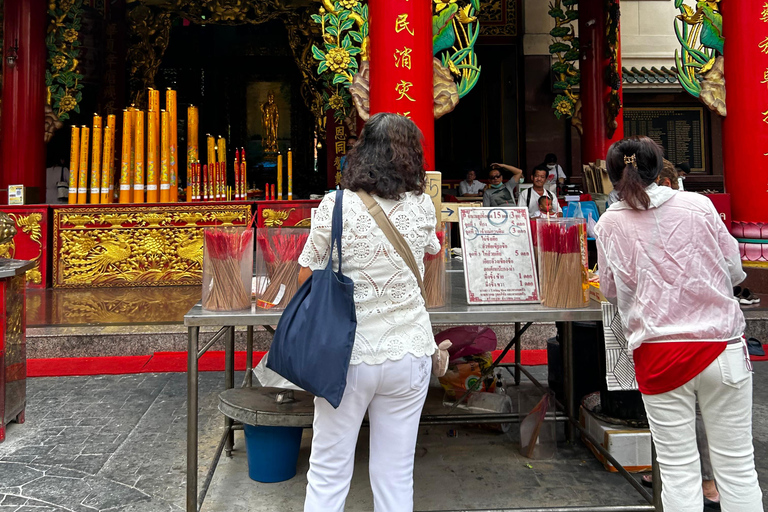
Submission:
M 768 363 L 755 367 L 756 458 L 768 496 Z M 545 367 L 535 371 L 546 378 Z M 216 397 L 222 385 L 220 372 L 200 374 L 200 481 L 221 433 Z M 7 440 L 0 443 L 0 512 L 183 510 L 185 374 L 36 378 L 27 389 L 27 423 L 9 425 Z M 528 467 L 503 434 L 462 427 L 459 437 L 449 438 L 448 428 L 422 429 L 416 458 L 419 510 L 445 509 L 446 503 L 467 508 L 641 503 L 580 444 L 561 443 L 557 460 Z M 246 476 L 238 433 L 235 457 L 221 462 L 206 512 L 300 510 L 309 434 L 297 477 L 256 484 Z M 366 437 L 364 430 L 348 511 L 372 509 Z

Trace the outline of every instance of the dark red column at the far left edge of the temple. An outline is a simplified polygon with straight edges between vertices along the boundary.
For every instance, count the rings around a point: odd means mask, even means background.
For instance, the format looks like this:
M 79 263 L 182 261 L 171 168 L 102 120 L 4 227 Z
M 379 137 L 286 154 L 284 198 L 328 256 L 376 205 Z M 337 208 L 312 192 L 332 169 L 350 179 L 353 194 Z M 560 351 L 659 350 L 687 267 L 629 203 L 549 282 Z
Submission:
M 46 12 L 45 0 L 5 0 L 0 187 L 25 185 L 28 202 L 45 201 Z

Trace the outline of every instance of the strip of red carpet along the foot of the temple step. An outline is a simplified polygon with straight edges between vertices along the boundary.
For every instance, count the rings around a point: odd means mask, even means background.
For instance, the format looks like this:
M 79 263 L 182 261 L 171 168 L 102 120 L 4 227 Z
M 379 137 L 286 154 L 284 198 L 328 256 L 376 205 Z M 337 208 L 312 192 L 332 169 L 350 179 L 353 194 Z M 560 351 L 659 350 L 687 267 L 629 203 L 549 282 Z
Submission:
M 501 353 L 493 352 L 494 359 Z M 265 352 L 254 352 L 254 364 L 261 361 Z M 547 364 L 546 350 L 523 350 L 523 364 L 539 366 Z M 514 351 L 503 362 L 513 363 Z M 201 372 L 224 371 L 224 352 L 208 351 L 200 358 Z M 245 370 L 245 352 L 235 352 L 235 370 Z M 71 377 L 84 375 L 122 375 L 130 373 L 183 373 L 187 371 L 186 352 L 155 352 L 151 356 L 123 357 L 62 357 L 55 359 L 27 360 L 27 377 Z

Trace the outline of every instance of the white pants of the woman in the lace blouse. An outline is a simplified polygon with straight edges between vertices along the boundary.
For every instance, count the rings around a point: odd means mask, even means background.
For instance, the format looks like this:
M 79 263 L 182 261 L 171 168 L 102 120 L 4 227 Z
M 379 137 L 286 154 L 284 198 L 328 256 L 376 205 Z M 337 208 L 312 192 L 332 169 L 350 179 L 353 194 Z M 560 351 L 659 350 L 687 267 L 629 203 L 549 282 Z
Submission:
M 315 398 L 304 512 L 344 510 L 366 411 L 374 510 L 413 510 L 413 459 L 431 371 L 431 357 L 411 355 L 378 365 L 352 365 L 338 409 Z

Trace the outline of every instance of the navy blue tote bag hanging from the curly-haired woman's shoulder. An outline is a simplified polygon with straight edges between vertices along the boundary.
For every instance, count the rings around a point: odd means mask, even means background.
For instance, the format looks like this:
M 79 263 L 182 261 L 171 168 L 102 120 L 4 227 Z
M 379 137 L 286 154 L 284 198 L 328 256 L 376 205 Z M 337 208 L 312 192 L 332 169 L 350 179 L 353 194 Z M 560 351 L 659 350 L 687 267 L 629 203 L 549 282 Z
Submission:
M 336 191 L 328 265 L 315 270 L 293 296 L 277 324 L 267 368 L 338 407 L 347 386 L 355 343 L 355 285 L 341 273 L 341 206 Z M 333 248 L 339 270 L 333 270 Z

